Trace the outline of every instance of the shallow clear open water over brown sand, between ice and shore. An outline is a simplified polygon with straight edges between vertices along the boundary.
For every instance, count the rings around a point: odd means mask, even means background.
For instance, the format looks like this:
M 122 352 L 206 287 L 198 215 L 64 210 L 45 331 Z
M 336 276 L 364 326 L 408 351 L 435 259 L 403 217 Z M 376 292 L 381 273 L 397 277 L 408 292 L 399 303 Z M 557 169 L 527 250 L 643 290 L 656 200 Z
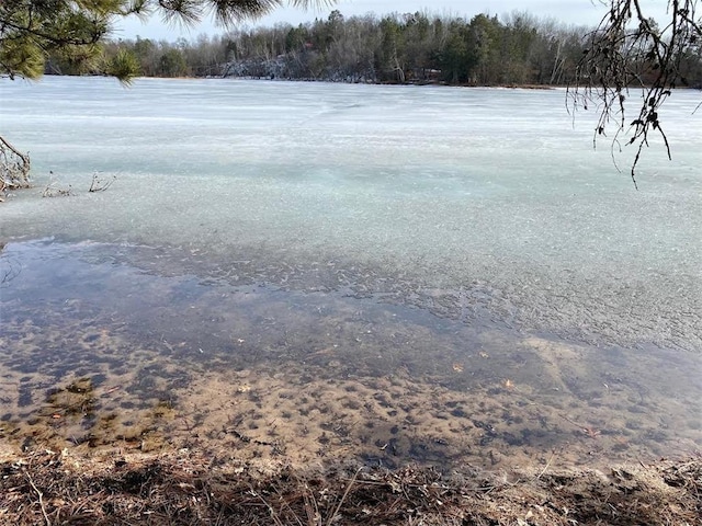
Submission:
M 0 438 L 443 467 L 702 444 L 699 354 L 511 327 L 479 285 L 439 294 L 396 279 L 370 294 L 364 271 L 335 262 L 314 287 L 309 270 L 193 261 L 182 249 L 4 247 Z

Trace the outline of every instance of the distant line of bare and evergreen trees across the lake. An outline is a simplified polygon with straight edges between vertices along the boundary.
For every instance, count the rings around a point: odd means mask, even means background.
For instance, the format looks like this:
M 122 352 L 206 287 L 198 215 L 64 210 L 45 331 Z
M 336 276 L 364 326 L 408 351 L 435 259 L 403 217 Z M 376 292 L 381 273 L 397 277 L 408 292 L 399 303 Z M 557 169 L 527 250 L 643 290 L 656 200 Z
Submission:
M 577 67 L 588 52 L 585 35 L 592 31 L 528 13 L 465 20 L 422 12 L 344 18 L 333 11 L 326 20 L 296 27 L 241 28 L 192 42 L 109 42 L 104 54 L 106 62 L 128 57 L 146 77 L 567 84 L 582 80 Z M 645 71 L 643 66 L 631 65 Z M 692 43 L 680 69 L 689 85 L 702 87 L 702 43 Z M 70 73 L 71 67 L 54 58 L 47 72 Z

